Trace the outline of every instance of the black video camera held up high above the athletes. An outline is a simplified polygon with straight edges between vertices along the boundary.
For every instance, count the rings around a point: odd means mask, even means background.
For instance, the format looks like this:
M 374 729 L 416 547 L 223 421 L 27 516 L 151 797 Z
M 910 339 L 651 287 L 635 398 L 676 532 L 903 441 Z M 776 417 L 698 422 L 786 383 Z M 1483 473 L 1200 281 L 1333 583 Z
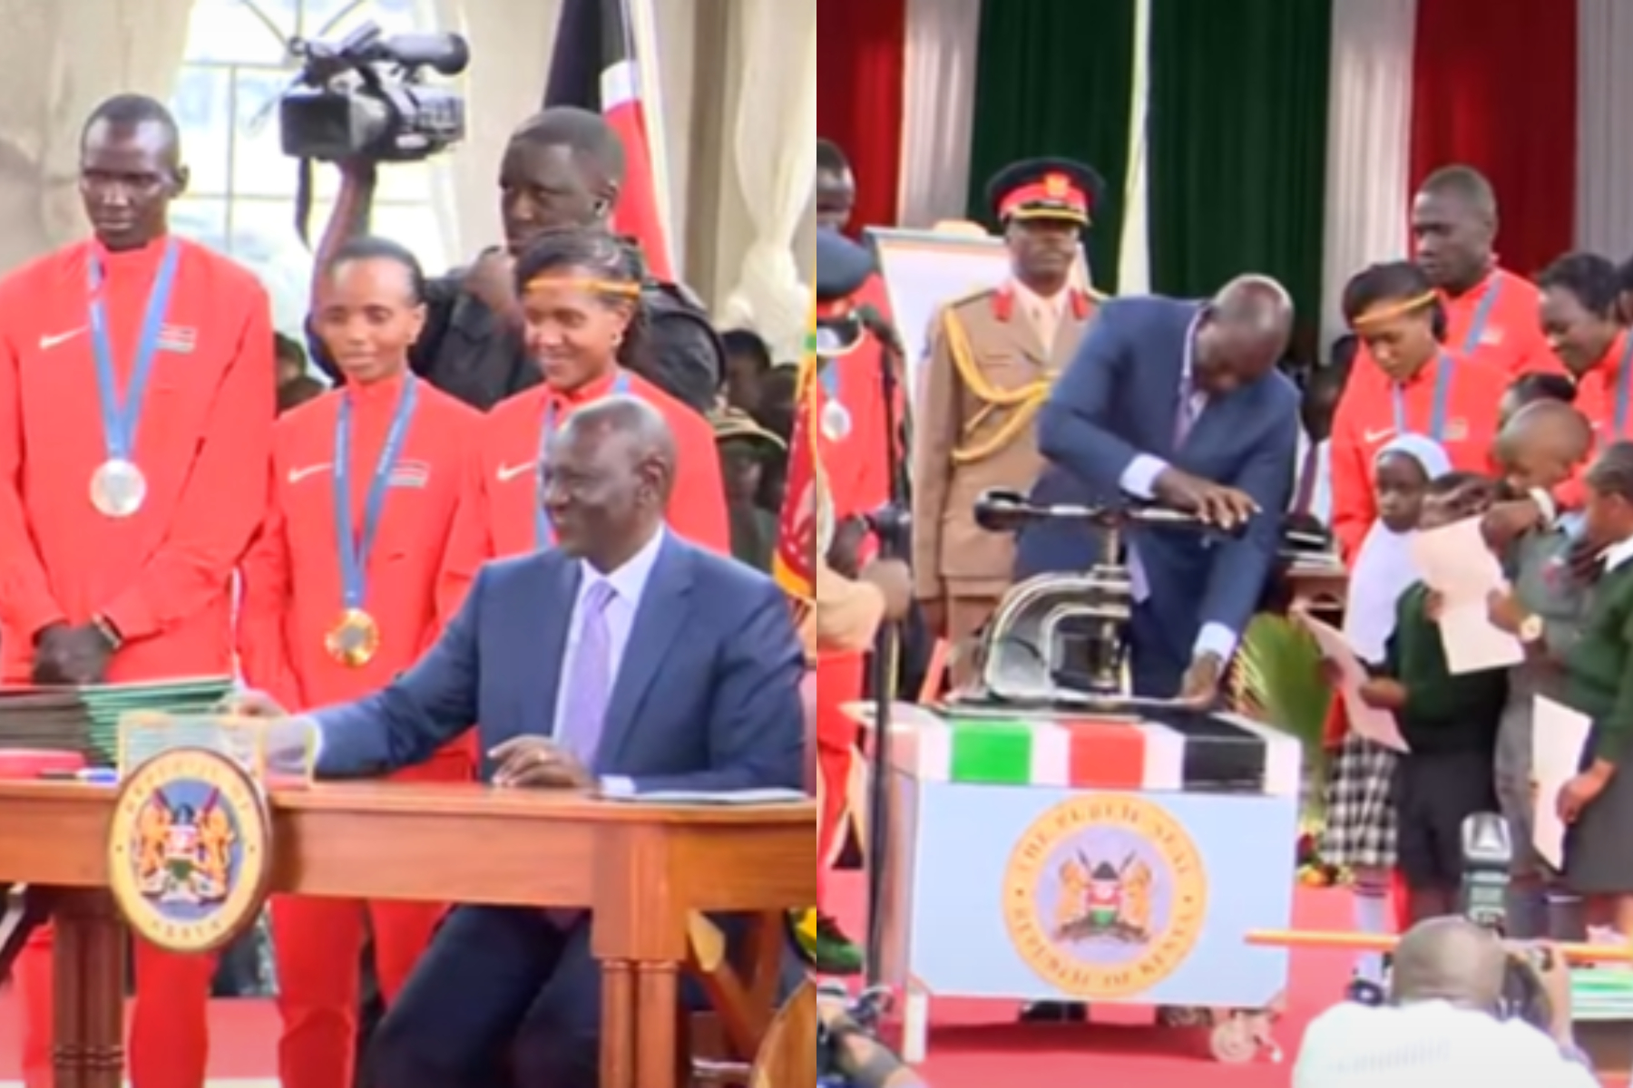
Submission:
M 289 49 L 304 67 L 278 103 L 284 155 L 415 163 L 465 137 L 465 100 L 425 82 L 470 64 L 459 34 L 387 38 L 364 23 L 338 44 L 294 39 Z

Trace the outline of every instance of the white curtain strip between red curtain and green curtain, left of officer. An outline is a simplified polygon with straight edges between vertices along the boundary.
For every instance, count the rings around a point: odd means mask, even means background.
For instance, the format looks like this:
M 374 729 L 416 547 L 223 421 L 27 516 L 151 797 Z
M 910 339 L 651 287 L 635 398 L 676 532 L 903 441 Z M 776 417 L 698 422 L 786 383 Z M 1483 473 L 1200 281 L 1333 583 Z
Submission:
M 903 227 L 963 219 L 980 34 L 981 0 L 908 0 L 897 199 Z

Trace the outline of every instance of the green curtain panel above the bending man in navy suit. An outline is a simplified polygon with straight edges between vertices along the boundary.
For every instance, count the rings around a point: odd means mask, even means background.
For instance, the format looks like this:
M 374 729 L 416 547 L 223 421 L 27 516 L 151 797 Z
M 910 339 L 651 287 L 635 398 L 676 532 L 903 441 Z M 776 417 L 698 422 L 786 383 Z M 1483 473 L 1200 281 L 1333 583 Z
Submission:
M 1331 0 L 1151 0 L 1153 290 L 1264 272 L 1302 326 L 1319 323 L 1331 15 Z

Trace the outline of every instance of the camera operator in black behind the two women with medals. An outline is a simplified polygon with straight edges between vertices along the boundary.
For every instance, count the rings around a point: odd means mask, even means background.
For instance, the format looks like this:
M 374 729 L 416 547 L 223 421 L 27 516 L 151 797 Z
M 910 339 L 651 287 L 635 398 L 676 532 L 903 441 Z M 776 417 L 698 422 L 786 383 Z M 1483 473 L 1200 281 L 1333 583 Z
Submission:
M 335 212 L 314 264 L 318 269 L 348 238 L 367 233 L 374 206 L 379 166 L 349 161 L 340 170 Z M 539 367 L 523 344 L 514 261 L 552 227 L 606 225 L 622 183 L 624 147 L 601 114 L 557 106 L 516 129 L 500 163 L 505 245 L 426 282 L 426 323 L 410 354 L 413 372 L 483 411 L 537 385 Z M 642 305 L 648 351 L 635 369 L 676 400 L 709 411 L 725 374 L 725 349 L 702 305 L 686 287 L 652 279 L 642 284 Z M 340 380 L 322 344 L 310 339 L 317 364 Z

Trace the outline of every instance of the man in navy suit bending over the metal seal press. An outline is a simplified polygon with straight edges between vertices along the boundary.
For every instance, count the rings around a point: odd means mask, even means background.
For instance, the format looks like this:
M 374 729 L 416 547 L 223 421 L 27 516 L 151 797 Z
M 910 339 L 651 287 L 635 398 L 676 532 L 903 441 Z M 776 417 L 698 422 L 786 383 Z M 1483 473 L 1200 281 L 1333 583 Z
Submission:
M 1298 390 L 1275 369 L 1292 315 L 1262 276 L 1210 302 L 1112 300 L 1039 416 L 1043 455 L 1102 494 L 1246 525 L 1128 533 L 1137 695 L 1212 703 L 1275 564 L 1298 447 Z

